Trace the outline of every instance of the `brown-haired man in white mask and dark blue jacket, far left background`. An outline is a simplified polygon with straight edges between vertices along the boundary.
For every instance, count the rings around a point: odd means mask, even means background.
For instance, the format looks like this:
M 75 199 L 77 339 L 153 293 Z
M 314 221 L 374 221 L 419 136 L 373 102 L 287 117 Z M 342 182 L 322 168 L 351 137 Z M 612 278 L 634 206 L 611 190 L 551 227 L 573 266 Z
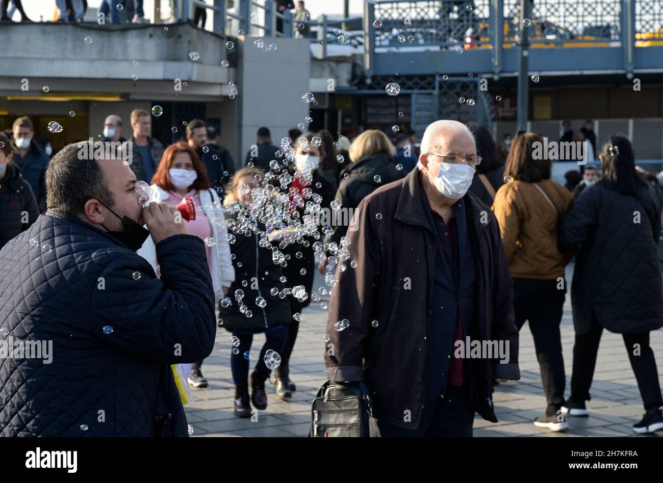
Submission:
M 34 197 L 37 200 L 39 211 L 46 209 L 46 166 L 48 156 L 38 146 L 32 136 L 34 128 L 27 116 L 19 117 L 14 121 L 14 145 L 19 150 L 14 162 L 21 168 L 23 179 L 29 182 Z

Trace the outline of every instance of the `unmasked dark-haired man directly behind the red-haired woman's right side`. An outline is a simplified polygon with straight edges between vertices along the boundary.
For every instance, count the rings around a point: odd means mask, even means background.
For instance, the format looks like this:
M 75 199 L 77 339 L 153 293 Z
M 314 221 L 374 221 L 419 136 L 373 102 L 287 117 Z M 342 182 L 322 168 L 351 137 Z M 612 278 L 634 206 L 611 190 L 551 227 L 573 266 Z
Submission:
M 207 132 L 204 121 L 194 119 L 186 125 L 186 140 L 208 168 L 211 187 L 223 190 L 235 173 L 235 161 L 223 146 L 208 145 Z

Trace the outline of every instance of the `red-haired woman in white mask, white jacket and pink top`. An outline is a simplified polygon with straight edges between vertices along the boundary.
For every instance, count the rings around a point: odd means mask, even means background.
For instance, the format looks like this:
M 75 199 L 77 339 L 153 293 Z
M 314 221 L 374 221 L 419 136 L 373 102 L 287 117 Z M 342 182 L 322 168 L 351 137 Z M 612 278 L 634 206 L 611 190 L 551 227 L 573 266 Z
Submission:
M 205 242 L 214 292 L 217 301 L 223 298 L 235 280 L 235 270 L 230 259 L 230 246 L 226 240 L 228 231 L 223 223 L 221 201 L 217 193 L 210 188 L 205 164 L 185 142 L 171 144 L 166 148 L 152 177 L 151 188 L 154 193 L 151 201 L 165 201 L 169 205 L 177 205 L 182 198 L 193 199 L 196 219 L 188 222 L 186 229 L 190 235 L 196 235 Z M 160 276 L 152 237 L 145 241 L 138 254 L 147 259 L 156 275 Z M 193 364 L 188 376 L 188 383 L 196 388 L 208 386 L 200 371 L 201 364 L 202 361 Z

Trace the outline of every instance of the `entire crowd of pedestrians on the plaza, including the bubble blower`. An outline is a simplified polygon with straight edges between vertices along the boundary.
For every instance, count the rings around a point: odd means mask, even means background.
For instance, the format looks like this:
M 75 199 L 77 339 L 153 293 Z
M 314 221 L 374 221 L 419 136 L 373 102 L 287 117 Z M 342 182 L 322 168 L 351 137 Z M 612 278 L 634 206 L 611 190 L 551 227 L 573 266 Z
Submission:
M 372 435 L 471 436 L 475 413 L 497 421 L 493 386 L 520 378 L 525 322 L 546 396 L 536 426 L 564 431 L 567 416 L 589 415 L 607 329 L 623 334 L 642 396 L 634 431 L 663 429 L 649 345 L 663 326 L 663 190 L 638 172 L 628 138 L 611 136 L 600 164 L 565 187 L 551 160 L 532 156 L 540 135 L 498 145 L 476 123 L 436 121 L 420 144 L 379 129 L 291 130 L 274 142 L 261 127 L 242 166 L 200 119 L 167 147 L 148 111 L 135 109 L 130 127 L 131 164 L 81 162 L 78 143 L 51 158 L 28 117 L 0 134 L 0 328 L 77 354 L 3 362 L 3 435 L 186 435 L 186 386 L 209 386 L 216 329 L 231 337 L 237 417 L 267 407 L 272 374 L 290 400 L 316 269 L 331 292 L 327 376 L 366 384 Z M 109 115 L 103 142 L 124 141 Z M 188 198 L 196 218 L 178 222 L 174 206 Z M 322 216 L 343 210 L 347 223 Z M 573 256 L 568 392 L 560 323 Z M 257 333 L 265 343 L 252 357 Z M 500 351 L 468 357 L 465 341 Z M 73 379 L 84 382 L 58 390 Z M 84 403 L 83 392 L 100 399 Z M 112 425 L 98 423 L 100 407 Z

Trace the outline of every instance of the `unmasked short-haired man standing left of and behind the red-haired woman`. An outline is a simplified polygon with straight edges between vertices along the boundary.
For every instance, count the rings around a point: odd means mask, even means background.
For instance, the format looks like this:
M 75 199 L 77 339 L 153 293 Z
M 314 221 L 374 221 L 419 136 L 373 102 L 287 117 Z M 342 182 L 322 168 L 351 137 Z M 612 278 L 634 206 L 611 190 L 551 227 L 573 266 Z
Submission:
M 152 138 L 152 117 L 143 109 L 131 111 L 131 145 L 133 146 L 131 170 L 137 180 L 152 182 L 152 176 L 156 173 L 164 154 L 164 146 L 158 140 Z

